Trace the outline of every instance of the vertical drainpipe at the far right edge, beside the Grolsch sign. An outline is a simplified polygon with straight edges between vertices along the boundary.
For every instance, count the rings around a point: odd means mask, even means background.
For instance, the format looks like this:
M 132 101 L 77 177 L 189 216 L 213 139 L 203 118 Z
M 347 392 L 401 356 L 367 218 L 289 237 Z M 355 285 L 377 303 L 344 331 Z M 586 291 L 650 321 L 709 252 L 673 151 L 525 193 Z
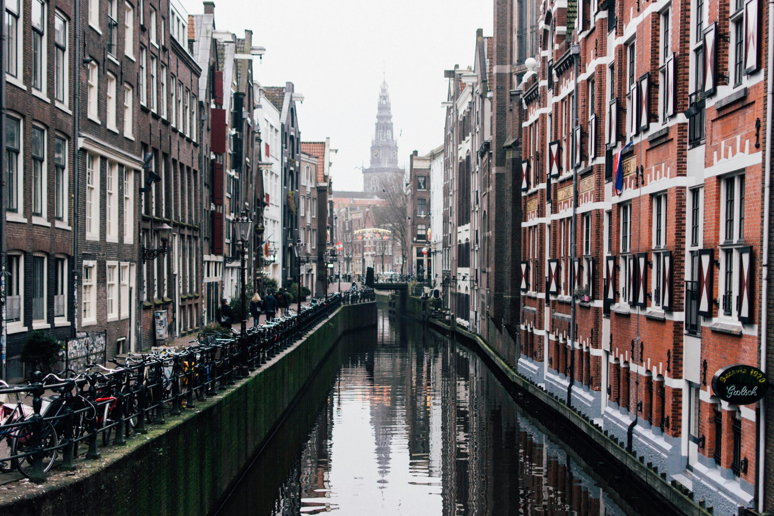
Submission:
M 769 306 L 769 203 L 771 202 L 771 169 L 772 169 L 772 102 L 774 102 L 774 43 L 772 43 L 772 34 L 774 34 L 774 18 L 772 18 L 772 12 L 774 12 L 774 0 L 769 0 L 769 12 L 767 14 L 769 18 L 769 63 L 766 68 L 768 87 L 766 88 L 766 152 L 765 159 L 765 172 L 763 175 L 763 245 L 762 245 L 762 280 L 761 280 L 761 307 L 765 308 Z M 767 314 L 765 310 L 760 310 L 761 313 L 761 371 L 766 372 L 766 332 L 768 329 Z M 765 442 L 766 442 L 766 421 L 765 421 L 765 409 L 766 404 L 761 400 L 761 405 L 758 411 L 758 460 L 755 461 L 758 464 L 758 472 L 756 475 L 756 481 L 758 482 L 758 511 L 763 512 L 763 502 L 765 494 Z

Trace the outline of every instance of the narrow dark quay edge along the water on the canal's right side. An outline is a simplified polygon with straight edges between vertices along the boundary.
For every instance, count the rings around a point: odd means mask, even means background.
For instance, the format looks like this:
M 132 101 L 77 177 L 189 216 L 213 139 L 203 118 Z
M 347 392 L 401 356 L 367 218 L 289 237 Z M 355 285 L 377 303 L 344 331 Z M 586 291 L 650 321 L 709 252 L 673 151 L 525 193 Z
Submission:
M 377 294 L 377 299 L 378 297 Z M 539 411 L 543 413 L 541 419 L 557 418 L 560 425 L 563 425 L 568 431 L 576 433 L 577 436 L 581 437 L 581 440 L 597 449 L 605 460 L 619 466 L 618 470 L 625 473 L 627 482 L 635 484 L 647 494 L 657 497 L 664 504 L 671 506 L 673 514 L 686 514 L 687 516 L 717 514 L 714 513 L 712 507 L 707 511 L 704 501 L 694 499 L 694 493 L 687 487 L 676 480 L 667 478 L 666 473 L 659 472 L 658 468 L 654 468 L 651 463 L 646 463 L 635 452 L 628 453 L 625 449 L 626 443 L 616 441 L 608 436 L 608 432 L 604 432 L 598 422 L 587 418 L 577 409 L 567 406 L 561 398 L 552 395 L 519 374 L 513 364 L 506 361 L 480 336 L 465 330 L 464 327 L 452 326 L 431 317 L 429 300 L 407 296 L 403 306 L 406 306 L 406 311 L 400 313 L 396 310 L 396 313 L 423 322 L 440 333 L 464 342 L 471 349 L 478 350 L 485 358 L 488 367 L 495 370 L 495 373 L 503 381 L 511 384 L 516 391 L 525 395 L 526 398 L 536 402 L 535 405 L 539 405 Z M 745 509 L 739 514 L 752 515 L 757 513 Z

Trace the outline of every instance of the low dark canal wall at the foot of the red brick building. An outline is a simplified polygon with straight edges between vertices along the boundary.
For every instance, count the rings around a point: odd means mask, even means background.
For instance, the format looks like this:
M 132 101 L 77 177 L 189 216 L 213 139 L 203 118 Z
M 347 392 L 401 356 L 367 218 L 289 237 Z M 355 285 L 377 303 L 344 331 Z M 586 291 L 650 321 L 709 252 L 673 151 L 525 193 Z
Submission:
M 422 318 L 422 313 L 409 314 L 412 319 Z M 694 501 L 694 493 L 666 479 L 666 473 L 653 468 L 651 463 L 645 463 L 642 458 L 638 458 L 632 453 L 627 453 L 622 446 L 625 443 L 616 443 L 608 437 L 608 434 L 602 431 L 600 425 L 587 418 L 586 415 L 577 411 L 576 408 L 567 406 L 562 398 L 556 397 L 550 392 L 539 388 L 533 381 L 519 374 L 515 367 L 512 367 L 505 361 L 498 352 L 489 346 L 489 344 L 478 335 L 468 332 L 463 328 L 456 326 L 447 326 L 437 320 L 430 320 L 430 325 L 434 326 L 441 333 L 461 337 L 473 347 L 478 347 L 481 353 L 488 359 L 488 365 L 495 367 L 515 388 L 526 391 L 539 404 L 547 409 L 548 417 L 560 417 L 565 425 L 571 430 L 577 432 L 577 435 L 590 443 L 598 451 L 604 453 L 608 460 L 617 463 L 623 470 L 628 472 L 628 481 L 634 482 L 650 494 L 660 497 L 667 504 L 674 508 L 675 514 L 684 514 L 686 516 L 708 516 L 704 507 Z

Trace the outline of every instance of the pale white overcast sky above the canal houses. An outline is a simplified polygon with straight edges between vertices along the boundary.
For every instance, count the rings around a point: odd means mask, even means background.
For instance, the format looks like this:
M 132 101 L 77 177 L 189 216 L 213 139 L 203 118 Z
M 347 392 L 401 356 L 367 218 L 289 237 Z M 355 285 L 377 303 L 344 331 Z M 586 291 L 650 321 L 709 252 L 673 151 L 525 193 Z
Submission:
M 190 14 L 202 2 L 182 0 Z M 296 85 L 304 142 L 330 137 L 334 190 L 362 190 L 382 72 L 389 84 L 399 163 L 444 140 L 444 70 L 474 63 L 476 29 L 492 33 L 492 0 L 215 0 L 215 27 L 266 47 L 254 77 Z

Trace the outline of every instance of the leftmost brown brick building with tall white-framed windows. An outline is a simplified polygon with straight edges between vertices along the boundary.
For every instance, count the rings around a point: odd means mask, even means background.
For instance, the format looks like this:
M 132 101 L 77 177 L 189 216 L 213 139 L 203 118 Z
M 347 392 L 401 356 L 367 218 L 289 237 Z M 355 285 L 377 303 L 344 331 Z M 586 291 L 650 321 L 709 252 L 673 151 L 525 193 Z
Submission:
M 71 2 L 7 2 L 5 196 L 6 335 L 2 378 L 21 379 L 33 330 L 72 337 L 74 304 Z

